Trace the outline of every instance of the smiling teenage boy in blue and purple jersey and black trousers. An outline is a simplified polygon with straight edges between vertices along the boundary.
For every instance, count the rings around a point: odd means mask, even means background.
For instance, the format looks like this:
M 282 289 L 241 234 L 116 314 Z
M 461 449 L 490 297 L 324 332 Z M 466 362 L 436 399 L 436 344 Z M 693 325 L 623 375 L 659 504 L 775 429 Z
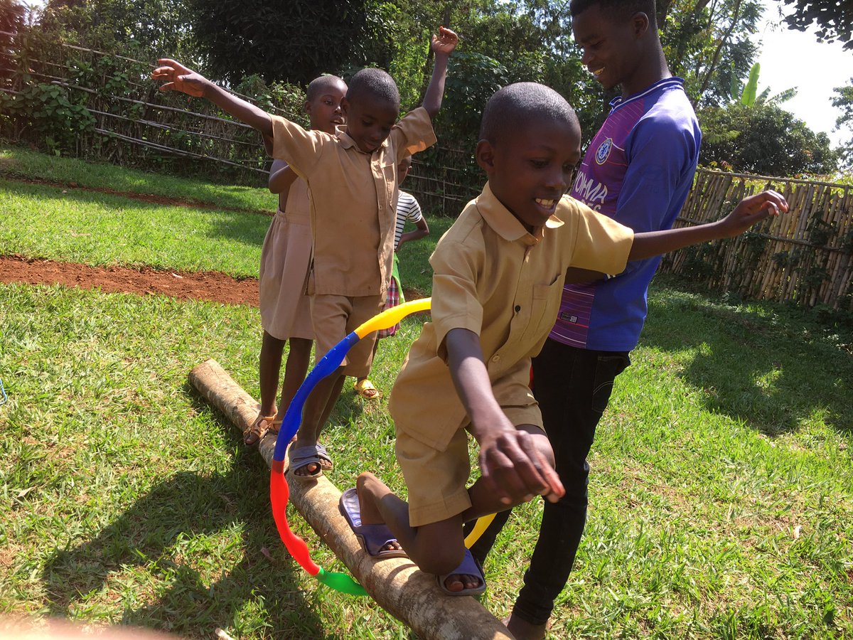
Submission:
M 635 231 L 669 229 L 693 183 L 701 133 L 682 79 L 667 67 L 654 0 L 572 0 L 570 12 L 584 66 L 605 89 L 622 90 L 589 144 L 572 196 Z M 533 358 L 534 395 L 566 495 L 544 503 L 525 586 L 505 620 L 519 640 L 544 637 L 572 571 L 586 523 L 586 457 L 613 379 L 630 364 L 659 262 L 631 262 L 612 278 L 570 274 L 566 282 L 578 283 L 566 284 L 554 329 Z M 480 561 L 508 514 L 498 514 L 473 547 Z

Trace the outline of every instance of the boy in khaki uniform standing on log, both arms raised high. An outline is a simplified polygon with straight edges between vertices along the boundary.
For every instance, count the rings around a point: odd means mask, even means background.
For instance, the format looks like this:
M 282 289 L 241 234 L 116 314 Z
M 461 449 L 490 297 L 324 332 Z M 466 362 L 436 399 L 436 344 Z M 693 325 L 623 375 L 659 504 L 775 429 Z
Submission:
M 160 90 L 205 97 L 264 136 L 271 154 L 305 178 L 311 192 L 312 262 L 306 282 L 319 360 L 345 335 L 374 317 L 391 279 L 396 224 L 397 165 L 435 143 L 432 118 L 444 96 L 444 78 L 456 33 L 432 36 L 435 65 L 421 108 L 397 122 L 400 96 L 391 76 L 363 69 L 350 80 L 343 105 L 346 131 L 305 131 L 232 96 L 176 61 L 160 60 L 153 79 Z M 305 402 L 290 451 L 292 476 L 316 478 L 332 460 L 317 437 L 334 408 L 346 375 L 368 375 L 375 334 L 359 340 L 334 375 L 320 381 Z

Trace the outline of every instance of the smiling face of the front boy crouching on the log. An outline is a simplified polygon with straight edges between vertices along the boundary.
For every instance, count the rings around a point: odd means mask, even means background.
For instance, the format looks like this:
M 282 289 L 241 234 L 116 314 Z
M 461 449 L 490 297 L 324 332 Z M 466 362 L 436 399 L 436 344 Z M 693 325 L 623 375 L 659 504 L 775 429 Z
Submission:
M 554 215 L 580 159 L 580 127 L 565 120 L 531 121 L 477 145 L 491 192 L 528 231 Z

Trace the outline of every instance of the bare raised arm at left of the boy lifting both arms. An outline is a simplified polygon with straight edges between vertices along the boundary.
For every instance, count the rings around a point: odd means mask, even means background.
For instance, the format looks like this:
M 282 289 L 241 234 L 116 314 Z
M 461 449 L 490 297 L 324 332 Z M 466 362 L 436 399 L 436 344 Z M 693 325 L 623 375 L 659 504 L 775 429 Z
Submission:
M 180 62 L 162 58 L 157 63 L 160 67 L 154 69 L 151 78 L 165 81 L 160 86 L 161 91 L 181 91 L 189 96 L 206 98 L 226 113 L 260 131 L 264 137 L 272 137 L 272 121 L 263 109 L 230 94 Z

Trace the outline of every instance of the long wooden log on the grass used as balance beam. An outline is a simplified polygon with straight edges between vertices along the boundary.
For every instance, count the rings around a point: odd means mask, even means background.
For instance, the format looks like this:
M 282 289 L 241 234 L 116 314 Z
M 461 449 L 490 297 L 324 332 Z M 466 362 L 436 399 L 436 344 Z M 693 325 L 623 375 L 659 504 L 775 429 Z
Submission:
M 259 404 L 216 360 L 208 359 L 189 372 L 189 381 L 241 431 L 258 415 Z M 275 437 L 258 447 L 270 465 Z M 374 561 L 365 554 L 338 511 L 340 492 L 322 476 L 315 482 L 292 482 L 290 502 L 328 544 L 371 597 L 418 634 L 435 640 L 512 638 L 507 627 L 479 602 L 467 596 L 448 596 L 434 576 L 422 573 L 406 558 Z M 341 596 L 347 597 L 347 596 Z

